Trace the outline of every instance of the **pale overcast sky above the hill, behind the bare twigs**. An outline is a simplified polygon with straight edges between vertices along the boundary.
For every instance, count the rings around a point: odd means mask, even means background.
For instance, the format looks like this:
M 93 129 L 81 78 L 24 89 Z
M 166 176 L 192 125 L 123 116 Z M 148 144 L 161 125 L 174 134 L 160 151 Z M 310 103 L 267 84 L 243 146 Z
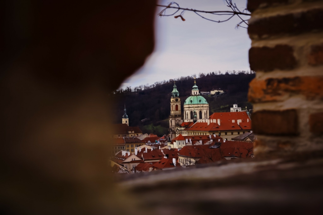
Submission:
M 161 0 L 167 5 L 170 1 Z M 224 0 L 176 0 L 183 8 L 198 10 L 231 10 Z M 246 0 L 234 1 L 242 11 Z M 176 6 L 176 5 L 174 5 Z M 121 88 L 153 84 L 156 81 L 173 79 L 192 74 L 209 73 L 220 70 L 249 70 L 248 50 L 251 40 L 247 29 L 235 26 L 240 22 L 235 16 L 224 23 L 205 20 L 194 12 L 185 11 L 183 17 L 158 17 L 163 8 L 156 11 L 156 45 L 146 63 L 134 75 L 124 81 Z M 169 11 L 168 13 L 170 13 Z M 179 15 L 177 13 L 176 15 Z M 227 16 L 205 15 L 215 20 Z

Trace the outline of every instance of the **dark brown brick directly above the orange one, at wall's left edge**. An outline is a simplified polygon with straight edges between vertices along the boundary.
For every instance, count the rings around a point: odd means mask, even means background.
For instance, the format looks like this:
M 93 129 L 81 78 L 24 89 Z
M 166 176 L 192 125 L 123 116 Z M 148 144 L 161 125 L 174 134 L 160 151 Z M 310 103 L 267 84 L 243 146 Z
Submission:
M 297 60 L 291 46 L 277 45 L 271 47 L 252 47 L 249 49 L 250 69 L 255 71 L 272 71 L 274 69 L 293 69 Z

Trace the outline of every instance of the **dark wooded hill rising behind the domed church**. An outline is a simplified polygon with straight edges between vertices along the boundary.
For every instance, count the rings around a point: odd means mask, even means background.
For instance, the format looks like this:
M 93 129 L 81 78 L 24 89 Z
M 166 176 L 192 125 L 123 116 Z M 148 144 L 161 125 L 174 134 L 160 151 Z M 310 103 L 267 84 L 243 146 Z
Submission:
M 227 71 L 225 74 L 200 73 L 198 76 L 194 74 L 174 79 L 180 93 L 182 110 L 185 99 L 191 95 L 194 77 L 197 77 L 196 85 L 200 92 L 209 92 L 214 88 L 227 90 L 226 94 L 218 97 L 203 95 L 209 103 L 210 115 L 214 112 L 228 112 L 234 103 L 243 110 L 245 106 L 247 109 L 252 109 L 252 105 L 247 102 L 247 93 L 249 82 L 255 77 L 255 73 L 253 71 Z M 159 136 L 167 134 L 173 85 L 173 81 L 164 80 L 153 85 L 127 87 L 115 91 L 111 94 L 116 101 L 115 106 L 112 107 L 115 113 L 112 116 L 113 122 L 121 123 L 125 104 L 130 126 L 139 126 L 144 133 L 154 133 Z

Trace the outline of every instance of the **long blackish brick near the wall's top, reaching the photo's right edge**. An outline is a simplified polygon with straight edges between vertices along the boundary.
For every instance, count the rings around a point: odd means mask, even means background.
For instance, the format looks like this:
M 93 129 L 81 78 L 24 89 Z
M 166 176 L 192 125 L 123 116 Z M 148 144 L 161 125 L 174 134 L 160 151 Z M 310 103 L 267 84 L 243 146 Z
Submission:
M 251 38 L 280 34 L 300 34 L 323 29 L 323 10 L 313 9 L 297 14 L 259 18 L 249 24 Z

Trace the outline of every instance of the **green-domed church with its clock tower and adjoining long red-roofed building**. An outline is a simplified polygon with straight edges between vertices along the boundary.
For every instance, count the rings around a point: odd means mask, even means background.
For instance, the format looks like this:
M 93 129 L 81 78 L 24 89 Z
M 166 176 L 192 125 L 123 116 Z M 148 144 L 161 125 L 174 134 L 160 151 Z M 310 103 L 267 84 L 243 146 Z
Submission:
M 237 104 L 234 104 L 231 112 L 214 113 L 209 116 L 209 104 L 200 95 L 195 80 L 191 96 L 185 99 L 183 116 L 180 107 L 179 92 L 174 84 L 171 97 L 171 115 L 169 117 L 171 140 L 174 140 L 180 134 L 182 136 L 218 135 L 226 140 L 231 140 L 231 138 L 251 131 L 251 120 L 248 112 L 242 112 Z

